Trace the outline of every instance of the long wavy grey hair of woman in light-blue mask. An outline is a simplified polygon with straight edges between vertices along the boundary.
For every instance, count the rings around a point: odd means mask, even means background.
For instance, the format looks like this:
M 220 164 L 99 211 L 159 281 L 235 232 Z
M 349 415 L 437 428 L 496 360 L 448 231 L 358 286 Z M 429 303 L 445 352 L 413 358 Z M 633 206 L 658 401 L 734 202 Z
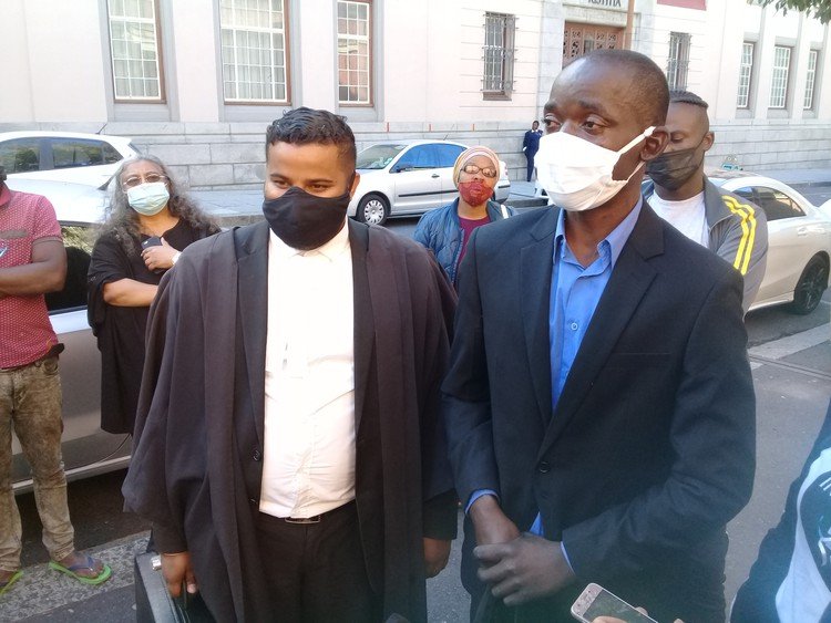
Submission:
M 171 194 L 171 198 L 167 201 L 167 209 L 173 216 L 177 216 L 194 227 L 208 226 L 215 231 L 218 230 L 213 219 L 206 216 L 196 206 L 196 203 L 184 194 L 171 169 L 162 160 L 155 156 L 142 155 L 122 162 L 119 170 L 115 172 L 110 207 L 106 210 L 106 220 L 101 226 L 100 236 L 112 233 L 127 256 L 135 256 L 137 252 L 136 242 L 141 240 L 138 212 L 130 207 L 127 194 L 121 187 L 121 175 L 125 168 L 135 163 L 153 163 L 165 175 L 167 178 L 167 188 Z

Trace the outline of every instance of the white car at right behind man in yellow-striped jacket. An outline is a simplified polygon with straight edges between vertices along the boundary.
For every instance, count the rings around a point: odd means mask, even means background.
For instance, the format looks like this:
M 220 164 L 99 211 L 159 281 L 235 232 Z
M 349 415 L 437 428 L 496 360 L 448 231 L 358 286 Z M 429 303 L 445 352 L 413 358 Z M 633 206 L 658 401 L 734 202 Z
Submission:
M 768 261 L 751 310 L 790 303 L 811 313 L 828 288 L 831 218 L 793 188 L 745 170 L 708 169 L 716 186 L 745 197 L 768 217 Z

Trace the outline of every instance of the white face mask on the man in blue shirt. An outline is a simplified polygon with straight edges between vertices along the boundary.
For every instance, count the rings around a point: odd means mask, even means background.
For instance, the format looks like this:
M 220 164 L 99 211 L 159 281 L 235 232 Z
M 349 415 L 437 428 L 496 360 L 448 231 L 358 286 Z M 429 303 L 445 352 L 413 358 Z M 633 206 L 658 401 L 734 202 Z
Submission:
M 568 211 L 591 210 L 602 206 L 626 186 L 644 166 L 640 163 L 626 179 L 613 179 L 612 172 L 623 154 L 652 136 L 647 127 L 622 149 L 613 152 L 573 134 L 555 132 L 540 139 L 536 174 L 554 205 Z

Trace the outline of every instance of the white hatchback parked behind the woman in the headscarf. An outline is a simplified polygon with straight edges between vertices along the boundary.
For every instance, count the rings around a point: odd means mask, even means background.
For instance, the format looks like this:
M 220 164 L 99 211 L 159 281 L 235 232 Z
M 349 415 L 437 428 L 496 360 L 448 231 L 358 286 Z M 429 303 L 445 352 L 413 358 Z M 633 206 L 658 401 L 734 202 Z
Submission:
M 450 204 L 459 190 L 453 165 L 466 145 L 450 141 L 396 141 L 379 143 L 358 154 L 361 175 L 348 215 L 381 225 L 391 216 L 418 215 Z M 511 193 L 505 163 L 500 160 L 496 201 Z

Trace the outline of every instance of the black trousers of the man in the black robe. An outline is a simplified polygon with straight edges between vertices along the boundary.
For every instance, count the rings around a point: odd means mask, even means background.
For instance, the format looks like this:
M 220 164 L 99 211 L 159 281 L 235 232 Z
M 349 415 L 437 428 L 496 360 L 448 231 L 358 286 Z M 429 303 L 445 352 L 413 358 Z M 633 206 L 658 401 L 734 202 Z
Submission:
M 317 523 L 291 523 L 261 512 L 255 523 L 275 621 L 380 621 L 382 600 L 367 578 L 355 502 L 322 515 Z

